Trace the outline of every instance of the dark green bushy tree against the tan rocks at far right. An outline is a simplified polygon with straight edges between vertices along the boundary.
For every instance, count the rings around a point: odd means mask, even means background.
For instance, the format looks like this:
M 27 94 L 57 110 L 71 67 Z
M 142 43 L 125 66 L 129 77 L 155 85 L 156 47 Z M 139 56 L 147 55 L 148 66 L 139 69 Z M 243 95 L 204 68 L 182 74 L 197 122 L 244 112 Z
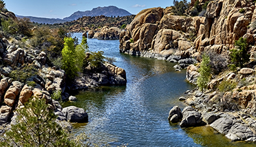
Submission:
M 250 54 L 248 54 L 248 44 L 246 38 L 239 38 L 235 41 L 235 49 L 231 49 L 231 62 L 233 64 L 229 65 L 232 70 L 236 67 L 244 67 L 244 63 L 250 60 Z

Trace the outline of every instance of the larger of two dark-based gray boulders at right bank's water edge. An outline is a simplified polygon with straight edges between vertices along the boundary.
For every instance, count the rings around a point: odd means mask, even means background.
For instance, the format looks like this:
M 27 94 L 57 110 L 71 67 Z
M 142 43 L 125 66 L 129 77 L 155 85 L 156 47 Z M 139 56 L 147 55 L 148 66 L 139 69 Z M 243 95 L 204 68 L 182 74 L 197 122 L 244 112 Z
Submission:
M 192 106 L 186 106 L 182 111 L 182 115 L 182 122 L 180 122 L 181 127 L 203 126 L 206 124 L 202 121 L 201 113 L 195 111 Z

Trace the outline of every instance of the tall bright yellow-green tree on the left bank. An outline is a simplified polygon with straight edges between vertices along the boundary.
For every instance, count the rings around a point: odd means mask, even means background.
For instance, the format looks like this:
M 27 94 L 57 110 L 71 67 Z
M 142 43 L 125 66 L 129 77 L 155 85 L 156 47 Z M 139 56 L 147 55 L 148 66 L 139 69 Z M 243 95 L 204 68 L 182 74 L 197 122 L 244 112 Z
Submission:
M 74 39 L 71 37 L 64 38 L 64 48 L 62 49 L 63 69 L 68 78 L 73 79 L 77 75 L 78 67 L 76 66 L 76 51 L 74 49 Z

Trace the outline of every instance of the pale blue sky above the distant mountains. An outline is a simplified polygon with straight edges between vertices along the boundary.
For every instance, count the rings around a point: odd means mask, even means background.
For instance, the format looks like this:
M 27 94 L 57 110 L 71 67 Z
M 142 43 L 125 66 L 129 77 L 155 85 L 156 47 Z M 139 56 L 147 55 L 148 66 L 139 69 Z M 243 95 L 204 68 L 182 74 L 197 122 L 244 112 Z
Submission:
M 92 10 L 98 6 L 109 5 L 125 9 L 131 14 L 137 14 L 146 8 L 166 8 L 173 5 L 173 0 L 5 0 L 5 3 L 9 11 L 18 15 L 63 19 L 78 10 Z

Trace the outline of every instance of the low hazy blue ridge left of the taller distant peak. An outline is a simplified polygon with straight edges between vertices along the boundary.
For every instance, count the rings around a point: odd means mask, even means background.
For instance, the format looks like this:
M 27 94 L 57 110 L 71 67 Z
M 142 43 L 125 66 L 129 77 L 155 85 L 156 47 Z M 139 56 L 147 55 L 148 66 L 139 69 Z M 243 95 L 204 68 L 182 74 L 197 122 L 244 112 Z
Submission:
M 16 15 L 17 17 L 23 18 L 26 17 L 30 19 L 31 22 L 35 23 L 45 23 L 45 24 L 54 24 L 54 23 L 65 23 L 63 19 L 47 19 L 47 18 L 41 18 L 41 17 L 34 17 L 34 16 L 20 16 Z

